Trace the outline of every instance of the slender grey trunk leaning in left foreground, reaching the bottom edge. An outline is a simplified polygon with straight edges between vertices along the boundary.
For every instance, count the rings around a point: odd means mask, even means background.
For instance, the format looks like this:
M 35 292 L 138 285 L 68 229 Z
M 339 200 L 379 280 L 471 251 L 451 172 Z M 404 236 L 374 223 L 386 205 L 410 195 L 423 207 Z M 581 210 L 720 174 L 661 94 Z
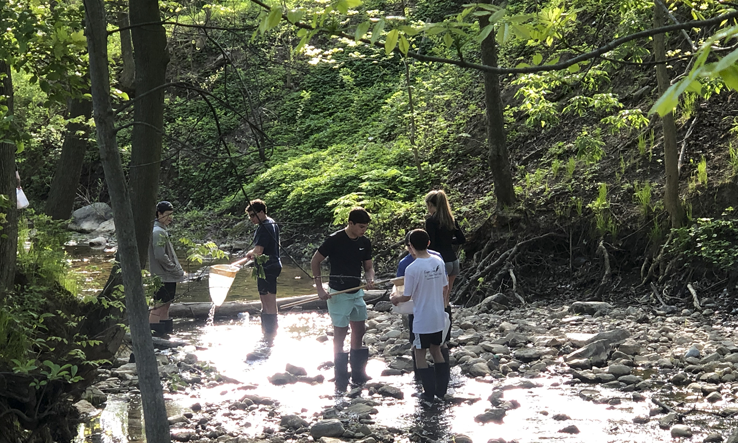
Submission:
M 103 0 L 86 0 L 85 10 L 97 143 L 100 148 L 100 161 L 103 163 L 113 204 L 113 214 L 117 222 L 116 236 L 120 267 L 123 270 L 125 307 L 131 326 L 131 341 L 136 354 L 146 440 L 149 443 L 169 443 L 171 437 L 167 411 L 164 406 L 159 373 L 156 370 L 156 357 L 154 357 L 151 331 L 148 329 L 148 309 L 141 281 L 136 233 L 134 231 L 134 214 L 131 210 L 131 199 L 128 196 L 123 165 L 115 139 L 114 113 L 110 101 L 107 31 Z

